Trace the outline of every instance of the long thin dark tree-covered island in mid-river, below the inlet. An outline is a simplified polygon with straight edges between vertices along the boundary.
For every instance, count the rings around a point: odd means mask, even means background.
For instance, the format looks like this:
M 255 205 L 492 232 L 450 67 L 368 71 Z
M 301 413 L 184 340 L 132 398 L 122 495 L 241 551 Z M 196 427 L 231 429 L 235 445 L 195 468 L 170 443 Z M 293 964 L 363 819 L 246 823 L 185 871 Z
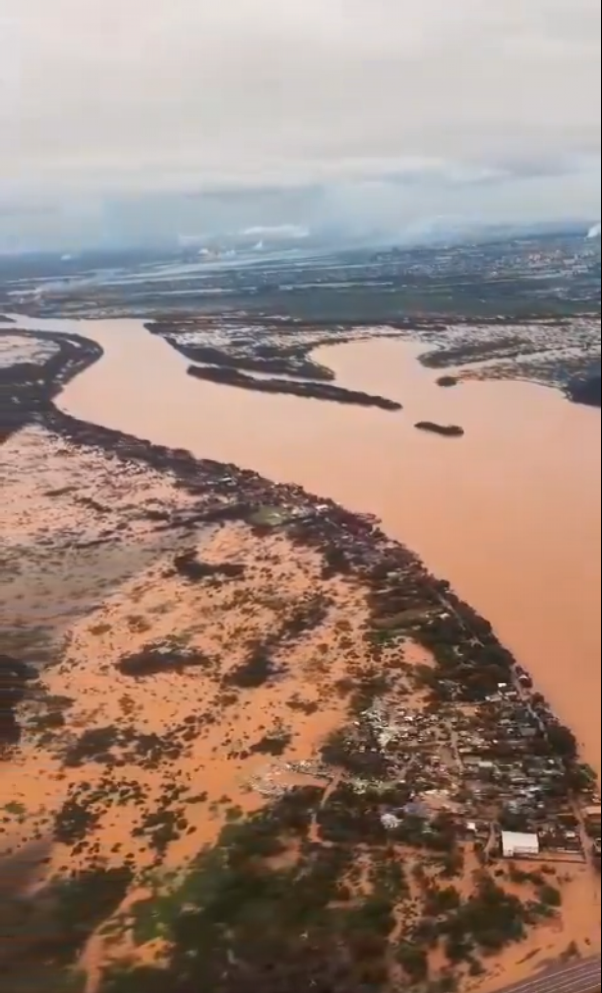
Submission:
M 207 382 L 223 383 L 238 389 L 250 389 L 259 393 L 284 393 L 313 400 L 330 400 L 334 403 L 351 403 L 362 407 L 380 407 L 381 410 L 401 410 L 402 404 L 385 396 L 363 393 L 361 390 L 344 389 L 322 382 L 296 382 L 289 379 L 256 379 L 235 368 L 217 365 L 188 365 L 188 375 Z

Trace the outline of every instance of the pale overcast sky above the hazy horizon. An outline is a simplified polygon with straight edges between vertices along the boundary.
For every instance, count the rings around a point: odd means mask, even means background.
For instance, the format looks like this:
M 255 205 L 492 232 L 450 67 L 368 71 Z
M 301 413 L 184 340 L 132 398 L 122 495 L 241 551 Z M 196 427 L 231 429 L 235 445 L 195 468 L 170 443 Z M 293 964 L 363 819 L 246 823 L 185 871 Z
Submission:
M 0 83 L 5 236 L 215 189 L 599 212 L 599 0 L 0 0 Z

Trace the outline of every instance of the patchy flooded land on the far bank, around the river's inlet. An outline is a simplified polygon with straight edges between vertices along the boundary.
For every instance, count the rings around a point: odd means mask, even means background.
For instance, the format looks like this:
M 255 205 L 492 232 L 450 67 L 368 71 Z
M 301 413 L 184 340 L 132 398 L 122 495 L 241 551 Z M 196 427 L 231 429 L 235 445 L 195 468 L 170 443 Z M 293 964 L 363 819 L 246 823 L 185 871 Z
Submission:
M 418 339 L 428 346 L 421 363 L 443 372 L 436 379 L 440 386 L 464 379 L 520 378 L 553 385 L 569 399 L 566 383 L 583 376 L 584 366 L 591 368 L 591 356 L 599 354 L 599 316 L 591 313 L 474 320 L 457 315 L 389 317 L 379 324 L 245 311 L 159 314 L 145 327 L 199 364 L 326 382 L 335 376 L 315 361 L 312 353 L 320 346 L 380 337 Z

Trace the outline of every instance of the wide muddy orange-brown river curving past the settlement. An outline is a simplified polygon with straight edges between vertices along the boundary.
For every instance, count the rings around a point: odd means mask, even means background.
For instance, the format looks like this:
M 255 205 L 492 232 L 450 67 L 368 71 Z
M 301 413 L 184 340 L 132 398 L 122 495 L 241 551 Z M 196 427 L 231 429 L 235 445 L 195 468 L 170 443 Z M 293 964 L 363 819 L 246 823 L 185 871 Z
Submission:
M 137 321 L 30 322 L 44 325 L 105 349 L 61 394 L 71 414 L 376 513 L 492 622 L 600 770 L 599 410 L 522 382 L 441 388 L 423 346 L 393 339 L 315 355 L 398 413 L 192 379 Z

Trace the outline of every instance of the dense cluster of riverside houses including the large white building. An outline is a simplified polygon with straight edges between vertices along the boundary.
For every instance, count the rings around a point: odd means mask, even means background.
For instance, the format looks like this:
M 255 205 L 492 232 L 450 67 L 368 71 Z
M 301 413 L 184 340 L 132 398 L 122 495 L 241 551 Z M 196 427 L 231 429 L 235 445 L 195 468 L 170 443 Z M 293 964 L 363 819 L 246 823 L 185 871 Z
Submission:
M 561 760 L 534 749 L 542 740 L 538 715 L 509 684 L 481 705 L 453 704 L 444 713 L 378 702 L 361 722 L 373 749 L 391 759 L 393 779 L 412 788 L 411 804 L 382 815 L 386 827 L 444 811 L 464 836 L 507 858 L 580 861 L 585 822 L 595 848 L 599 804 L 575 808 Z

